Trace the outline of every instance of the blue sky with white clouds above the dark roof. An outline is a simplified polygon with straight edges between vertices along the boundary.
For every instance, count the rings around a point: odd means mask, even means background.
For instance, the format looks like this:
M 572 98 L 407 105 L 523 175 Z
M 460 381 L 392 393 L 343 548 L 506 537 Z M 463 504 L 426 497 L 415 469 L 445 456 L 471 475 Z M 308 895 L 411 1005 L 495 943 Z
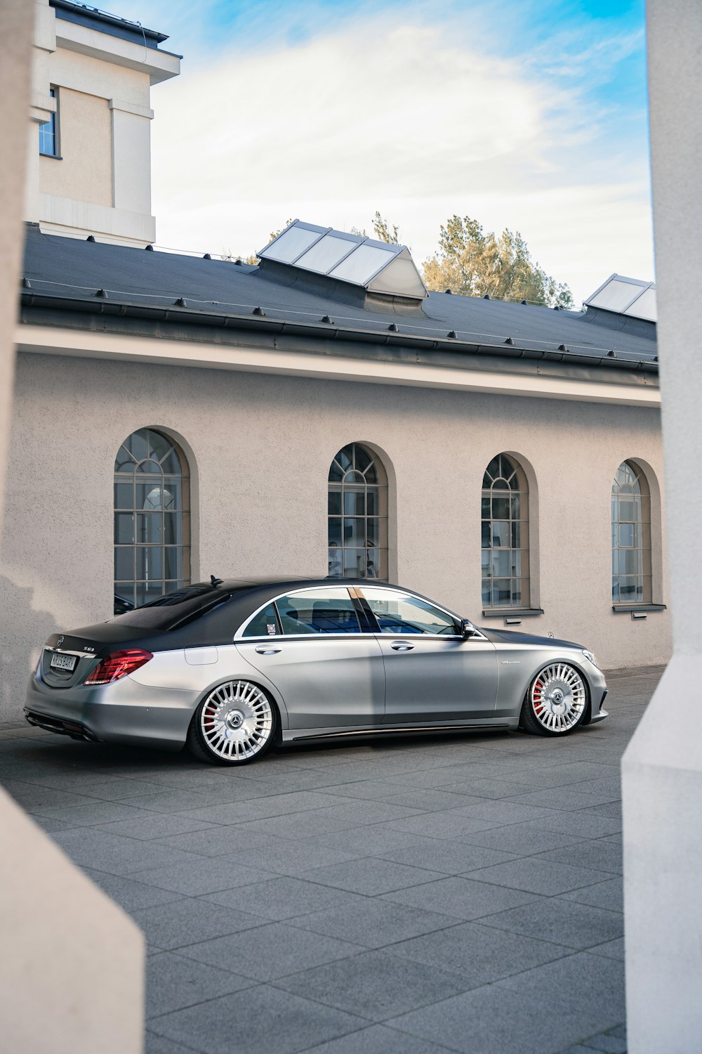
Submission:
M 247 254 L 293 216 L 421 261 L 454 212 L 519 230 L 577 300 L 653 273 L 644 3 L 127 0 L 154 89 L 158 242 Z

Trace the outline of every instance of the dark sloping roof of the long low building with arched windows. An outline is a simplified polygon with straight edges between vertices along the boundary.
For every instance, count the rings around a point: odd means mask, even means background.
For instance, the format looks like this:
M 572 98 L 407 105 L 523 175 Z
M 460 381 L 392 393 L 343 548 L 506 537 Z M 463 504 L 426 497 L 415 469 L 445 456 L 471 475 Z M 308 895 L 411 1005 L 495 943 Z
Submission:
M 392 302 L 372 308 L 310 290 L 301 272 L 266 274 L 262 267 L 41 234 L 28 226 L 22 305 L 24 317 L 51 311 L 62 325 L 94 325 L 109 316 L 226 327 L 229 331 L 297 333 L 323 338 L 421 348 L 496 358 L 548 358 L 574 366 L 658 369 L 654 323 L 597 309 L 563 311 L 526 304 L 429 293 L 423 311 L 406 316 Z M 82 320 L 81 320 L 82 319 Z M 63 323 L 66 325 L 67 323 Z M 212 337 L 209 337 L 212 339 Z M 313 350 L 317 350 L 316 348 Z

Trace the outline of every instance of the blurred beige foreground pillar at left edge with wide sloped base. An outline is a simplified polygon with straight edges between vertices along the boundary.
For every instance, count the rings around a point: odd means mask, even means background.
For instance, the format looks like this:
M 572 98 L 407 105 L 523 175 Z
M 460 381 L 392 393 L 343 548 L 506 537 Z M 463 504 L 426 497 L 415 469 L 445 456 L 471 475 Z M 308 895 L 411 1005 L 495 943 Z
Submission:
M 45 51 L 46 0 L 37 8 Z M 29 0 L 0 0 L 0 523 L 26 148 L 32 129 L 29 148 L 38 149 L 44 101 L 29 90 L 34 16 Z M 0 611 L 0 642 L 11 632 Z M 144 940 L 132 919 L 0 789 L 0 1051 L 139 1054 L 143 963 Z

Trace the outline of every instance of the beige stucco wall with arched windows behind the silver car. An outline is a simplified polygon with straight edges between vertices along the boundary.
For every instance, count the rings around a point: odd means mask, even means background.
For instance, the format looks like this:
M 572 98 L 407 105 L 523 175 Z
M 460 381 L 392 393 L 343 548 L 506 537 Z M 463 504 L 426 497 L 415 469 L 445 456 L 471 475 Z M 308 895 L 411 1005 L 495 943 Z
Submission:
M 521 628 L 581 641 L 606 666 L 667 659 L 667 612 L 635 623 L 610 599 L 611 481 L 636 458 L 659 493 L 656 410 L 23 354 L 0 568 L 7 717 L 48 633 L 112 613 L 114 460 L 145 426 L 188 454 L 194 578 L 325 574 L 328 468 L 356 441 L 389 476 L 390 577 L 478 622 L 482 476 L 512 452 L 533 484 L 544 608 Z M 660 539 L 655 567 L 665 602 Z

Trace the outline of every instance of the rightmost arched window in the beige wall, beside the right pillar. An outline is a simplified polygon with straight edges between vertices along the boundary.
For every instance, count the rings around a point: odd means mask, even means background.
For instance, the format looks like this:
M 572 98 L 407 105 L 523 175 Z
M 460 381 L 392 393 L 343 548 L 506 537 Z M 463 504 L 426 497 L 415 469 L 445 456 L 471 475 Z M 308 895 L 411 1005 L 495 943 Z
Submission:
M 622 462 L 611 485 L 611 601 L 650 603 L 650 493 L 646 477 Z

